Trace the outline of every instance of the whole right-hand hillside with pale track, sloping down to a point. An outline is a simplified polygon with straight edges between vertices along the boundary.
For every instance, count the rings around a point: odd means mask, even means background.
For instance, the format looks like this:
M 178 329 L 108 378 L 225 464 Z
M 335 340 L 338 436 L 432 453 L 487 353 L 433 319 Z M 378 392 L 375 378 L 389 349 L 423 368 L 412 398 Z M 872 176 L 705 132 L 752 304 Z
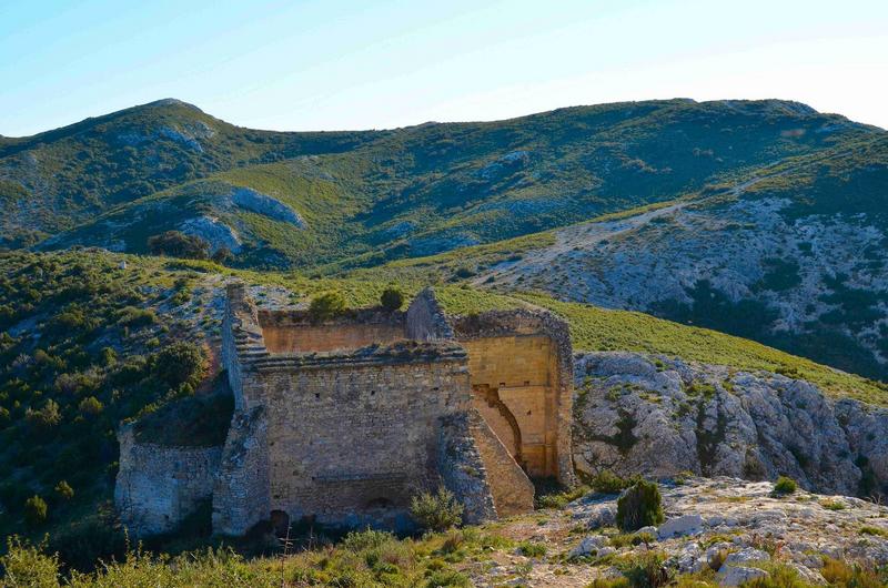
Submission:
M 693 199 L 376 272 L 637 310 L 885 379 L 886 199 L 882 134 Z

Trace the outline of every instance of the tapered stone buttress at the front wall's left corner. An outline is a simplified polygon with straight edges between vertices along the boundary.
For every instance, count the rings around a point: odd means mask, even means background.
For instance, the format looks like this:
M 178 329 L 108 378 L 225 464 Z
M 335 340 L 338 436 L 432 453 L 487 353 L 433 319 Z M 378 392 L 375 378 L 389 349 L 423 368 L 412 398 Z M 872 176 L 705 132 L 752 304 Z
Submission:
M 231 420 L 213 489 L 213 533 L 243 535 L 270 513 L 268 420 L 258 406 Z

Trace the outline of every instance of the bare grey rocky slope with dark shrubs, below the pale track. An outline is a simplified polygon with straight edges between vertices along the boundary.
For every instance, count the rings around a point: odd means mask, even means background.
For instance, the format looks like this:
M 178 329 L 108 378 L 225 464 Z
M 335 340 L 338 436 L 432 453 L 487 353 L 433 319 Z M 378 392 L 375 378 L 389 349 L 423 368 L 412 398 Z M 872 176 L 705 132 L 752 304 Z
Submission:
M 556 231 L 552 245 L 491 266 L 474 283 L 693 321 L 845 369 L 884 374 L 886 235 L 866 215 L 796 219 L 789 207 L 786 199 L 713 199 L 578 223 Z M 831 344 L 815 345 L 810 336 L 824 333 L 835 333 Z

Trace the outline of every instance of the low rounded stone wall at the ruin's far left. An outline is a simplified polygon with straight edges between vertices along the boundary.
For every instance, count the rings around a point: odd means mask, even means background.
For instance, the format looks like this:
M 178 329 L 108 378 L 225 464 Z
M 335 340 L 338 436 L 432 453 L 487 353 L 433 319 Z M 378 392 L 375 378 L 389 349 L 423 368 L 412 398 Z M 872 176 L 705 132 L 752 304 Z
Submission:
M 137 443 L 132 424 L 118 432 L 120 468 L 114 505 L 134 536 L 174 530 L 209 500 L 222 447 L 168 447 Z

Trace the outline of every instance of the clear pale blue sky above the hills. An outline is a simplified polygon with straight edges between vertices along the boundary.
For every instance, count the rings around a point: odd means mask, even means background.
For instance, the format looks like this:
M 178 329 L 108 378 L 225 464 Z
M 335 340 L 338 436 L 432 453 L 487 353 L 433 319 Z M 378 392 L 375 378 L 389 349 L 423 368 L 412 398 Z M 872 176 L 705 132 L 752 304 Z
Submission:
M 179 98 L 261 129 L 783 98 L 888 128 L 888 0 L 0 0 L 0 133 Z

